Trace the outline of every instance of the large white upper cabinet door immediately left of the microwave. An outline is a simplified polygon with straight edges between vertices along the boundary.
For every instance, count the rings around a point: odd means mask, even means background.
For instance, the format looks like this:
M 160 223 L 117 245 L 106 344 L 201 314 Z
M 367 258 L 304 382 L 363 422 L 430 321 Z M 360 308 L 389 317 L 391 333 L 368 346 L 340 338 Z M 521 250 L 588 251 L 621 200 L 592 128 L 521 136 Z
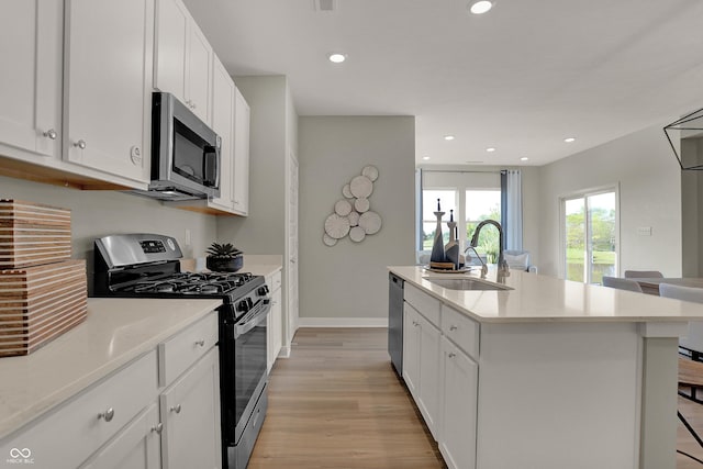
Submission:
M 153 0 L 66 0 L 64 155 L 148 182 Z

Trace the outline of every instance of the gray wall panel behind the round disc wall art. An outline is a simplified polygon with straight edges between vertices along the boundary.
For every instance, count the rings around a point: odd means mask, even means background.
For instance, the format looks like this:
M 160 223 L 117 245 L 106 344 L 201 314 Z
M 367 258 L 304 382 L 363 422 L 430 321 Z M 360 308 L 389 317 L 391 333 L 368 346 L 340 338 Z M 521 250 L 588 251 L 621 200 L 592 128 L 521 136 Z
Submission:
M 388 317 L 386 267 L 414 264 L 414 122 L 405 116 L 300 118 L 301 326 Z M 346 237 L 327 247 L 324 221 L 343 199 L 342 187 L 366 165 L 379 170 L 369 201 L 382 228 L 361 243 Z

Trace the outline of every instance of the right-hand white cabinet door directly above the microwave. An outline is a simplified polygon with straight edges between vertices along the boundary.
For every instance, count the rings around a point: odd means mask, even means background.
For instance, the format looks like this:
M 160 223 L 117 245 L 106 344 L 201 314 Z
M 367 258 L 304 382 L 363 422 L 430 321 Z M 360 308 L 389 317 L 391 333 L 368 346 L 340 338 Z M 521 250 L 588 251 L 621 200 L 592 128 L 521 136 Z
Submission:
M 210 92 L 212 89 L 212 47 L 194 21 L 188 34 L 188 66 L 186 103 L 203 122 L 210 124 Z

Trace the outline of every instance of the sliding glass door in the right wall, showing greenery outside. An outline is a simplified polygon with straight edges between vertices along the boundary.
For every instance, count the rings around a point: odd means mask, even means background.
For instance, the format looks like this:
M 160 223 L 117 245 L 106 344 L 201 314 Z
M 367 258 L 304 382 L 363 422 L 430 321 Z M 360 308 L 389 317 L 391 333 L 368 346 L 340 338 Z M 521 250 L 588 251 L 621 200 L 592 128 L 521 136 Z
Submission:
M 617 197 L 614 189 L 562 199 L 565 278 L 601 283 L 617 276 Z

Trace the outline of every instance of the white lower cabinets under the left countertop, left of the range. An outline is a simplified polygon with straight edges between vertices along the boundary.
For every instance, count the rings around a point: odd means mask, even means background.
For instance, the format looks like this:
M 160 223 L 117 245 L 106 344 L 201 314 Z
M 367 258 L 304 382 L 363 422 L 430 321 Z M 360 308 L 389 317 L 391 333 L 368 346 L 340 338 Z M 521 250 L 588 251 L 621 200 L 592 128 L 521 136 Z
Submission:
M 0 440 L 0 454 L 51 469 L 221 468 L 216 314 Z

